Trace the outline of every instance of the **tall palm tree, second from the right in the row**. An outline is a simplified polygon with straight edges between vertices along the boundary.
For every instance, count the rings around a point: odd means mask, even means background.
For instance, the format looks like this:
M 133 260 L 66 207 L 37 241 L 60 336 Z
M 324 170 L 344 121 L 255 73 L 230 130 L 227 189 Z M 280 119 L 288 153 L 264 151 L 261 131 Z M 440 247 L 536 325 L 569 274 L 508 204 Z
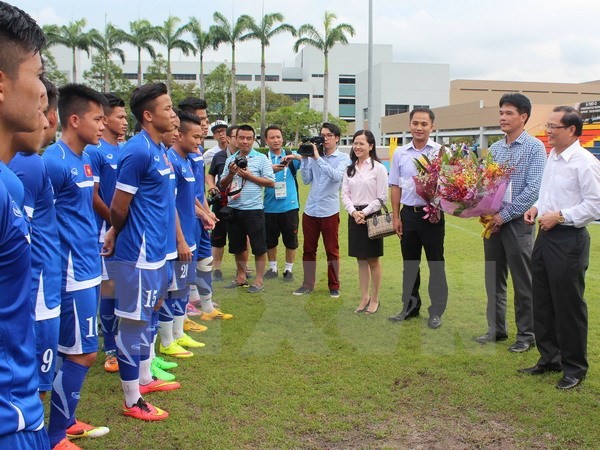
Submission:
M 256 23 L 252 17 L 248 17 L 248 29 L 250 32 L 242 36 L 241 40 L 257 39 L 260 41 L 260 142 L 264 146 L 264 130 L 266 128 L 267 116 L 267 89 L 265 86 L 265 48 L 271 45 L 271 38 L 280 33 L 288 32 L 296 36 L 296 29 L 283 22 L 281 13 L 263 14 L 262 21 Z M 275 26 L 280 23 L 279 26 Z

